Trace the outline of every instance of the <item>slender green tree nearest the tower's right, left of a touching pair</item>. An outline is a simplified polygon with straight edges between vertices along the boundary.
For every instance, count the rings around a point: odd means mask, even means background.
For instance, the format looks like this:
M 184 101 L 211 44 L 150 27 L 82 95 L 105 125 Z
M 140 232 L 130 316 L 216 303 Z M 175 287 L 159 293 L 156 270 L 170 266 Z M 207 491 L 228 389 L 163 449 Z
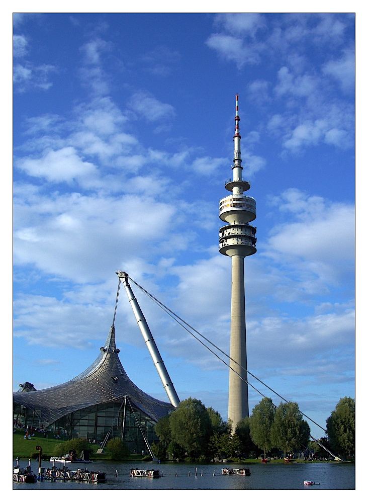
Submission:
M 254 444 L 263 450 L 263 457 L 272 447 L 271 427 L 274 417 L 274 405 L 270 398 L 264 397 L 254 406 L 249 417 L 250 437 Z

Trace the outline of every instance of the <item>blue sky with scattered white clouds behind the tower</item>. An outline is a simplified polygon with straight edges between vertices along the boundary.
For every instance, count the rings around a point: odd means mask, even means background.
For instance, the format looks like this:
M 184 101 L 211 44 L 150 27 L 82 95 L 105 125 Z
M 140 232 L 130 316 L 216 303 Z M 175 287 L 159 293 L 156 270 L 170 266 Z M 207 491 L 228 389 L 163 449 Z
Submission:
M 257 204 L 248 369 L 322 427 L 354 396 L 354 23 L 346 13 L 14 15 L 14 390 L 60 384 L 95 360 L 119 269 L 229 352 L 218 203 L 238 93 Z M 179 398 L 226 419 L 228 368 L 132 288 Z M 129 377 L 167 401 L 123 288 L 115 328 Z M 261 398 L 250 388 L 250 410 Z

